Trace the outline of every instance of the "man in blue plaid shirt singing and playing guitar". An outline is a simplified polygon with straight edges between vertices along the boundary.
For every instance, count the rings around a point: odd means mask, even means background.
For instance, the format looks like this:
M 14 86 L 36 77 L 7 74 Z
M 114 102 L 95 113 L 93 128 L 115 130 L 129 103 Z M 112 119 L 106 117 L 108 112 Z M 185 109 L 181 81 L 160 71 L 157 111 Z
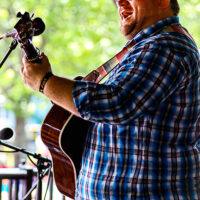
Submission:
M 106 83 L 52 75 L 43 93 L 94 123 L 76 199 L 200 199 L 199 53 L 180 25 L 176 0 L 118 0 L 121 33 L 136 42 Z M 183 29 L 183 28 L 182 28 Z M 51 67 L 24 59 L 38 91 Z

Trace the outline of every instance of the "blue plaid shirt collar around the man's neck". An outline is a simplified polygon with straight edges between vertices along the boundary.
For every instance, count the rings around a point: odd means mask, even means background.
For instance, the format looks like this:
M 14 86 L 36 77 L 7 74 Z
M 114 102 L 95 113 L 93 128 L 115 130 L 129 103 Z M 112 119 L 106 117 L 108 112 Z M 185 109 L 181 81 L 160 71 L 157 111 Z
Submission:
M 134 38 L 135 42 L 139 42 L 149 36 L 155 35 L 156 33 L 161 32 L 166 26 L 170 26 L 172 24 L 179 24 L 179 17 L 173 16 L 166 18 L 164 20 L 158 21 L 155 24 L 141 30 Z M 131 41 L 129 41 L 131 42 Z M 129 43 L 128 42 L 128 43 Z

